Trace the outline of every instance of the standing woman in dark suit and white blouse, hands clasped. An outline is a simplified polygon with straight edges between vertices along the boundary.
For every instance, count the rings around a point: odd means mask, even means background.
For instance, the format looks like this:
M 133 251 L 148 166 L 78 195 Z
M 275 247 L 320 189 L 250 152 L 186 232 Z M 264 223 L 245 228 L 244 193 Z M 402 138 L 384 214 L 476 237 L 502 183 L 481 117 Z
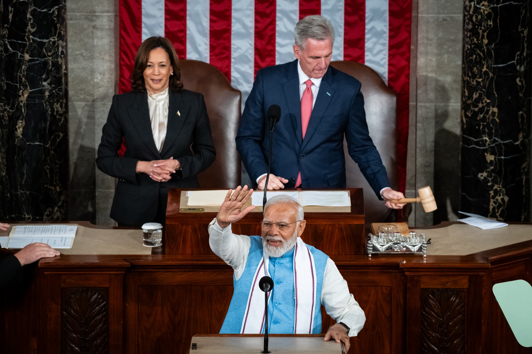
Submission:
M 171 42 L 146 39 L 137 51 L 131 92 L 113 97 L 96 165 L 118 178 L 111 218 L 119 226 L 164 225 L 169 188 L 198 188 L 214 161 L 203 95 L 182 89 Z M 126 147 L 119 156 L 122 144 Z

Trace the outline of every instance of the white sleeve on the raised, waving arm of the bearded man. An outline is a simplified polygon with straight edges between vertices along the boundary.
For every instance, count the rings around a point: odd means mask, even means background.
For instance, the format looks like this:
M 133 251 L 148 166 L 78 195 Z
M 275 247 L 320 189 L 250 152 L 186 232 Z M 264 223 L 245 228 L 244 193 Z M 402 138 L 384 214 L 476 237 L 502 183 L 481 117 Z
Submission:
M 235 270 L 235 280 L 238 280 L 244 273 L 247 255 L 250 254 L 250 237 L 233 234 L 230 224 L 222 229 L 214 218 L 209 224 L 209 245 L 215 255 Z

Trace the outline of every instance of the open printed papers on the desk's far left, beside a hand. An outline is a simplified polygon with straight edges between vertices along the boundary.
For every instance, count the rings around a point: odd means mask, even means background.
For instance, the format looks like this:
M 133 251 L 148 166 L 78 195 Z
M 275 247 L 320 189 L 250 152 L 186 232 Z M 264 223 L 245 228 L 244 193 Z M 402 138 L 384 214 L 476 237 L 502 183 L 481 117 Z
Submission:
M 40 242 L 52 248 L 72 248 L 77 229 L 77 225 L 17 225 L 2 247 L 23 248 Z

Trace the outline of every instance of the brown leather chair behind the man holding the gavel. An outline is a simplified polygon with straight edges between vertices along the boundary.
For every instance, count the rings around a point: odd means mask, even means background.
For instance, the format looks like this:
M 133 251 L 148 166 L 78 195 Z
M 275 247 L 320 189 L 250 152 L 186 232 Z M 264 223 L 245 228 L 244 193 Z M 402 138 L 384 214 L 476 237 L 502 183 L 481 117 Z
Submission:
M 347 61 L 331 62 L 330 65 L 362 83 L 361 91 L 364 95 L 364 110 L 369 134 L 383 159 L 390 187 L 397 190 L 397 93 L 388 88 L 379 74 L 369 66 Z M 347 153 L 345 139 L 344 152 L 347 187 L 364 189 L 365 222 L 394 221 L 397 212 L 386 208 L 384 202 L 377 198 L 356 163 Z

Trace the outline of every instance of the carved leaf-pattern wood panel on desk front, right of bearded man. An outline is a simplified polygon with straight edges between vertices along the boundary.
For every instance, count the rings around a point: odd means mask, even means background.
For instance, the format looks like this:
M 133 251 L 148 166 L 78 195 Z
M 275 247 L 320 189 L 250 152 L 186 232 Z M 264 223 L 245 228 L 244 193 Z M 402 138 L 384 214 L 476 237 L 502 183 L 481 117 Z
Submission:
M 421 352 L 465 354 L 464 291 L 429 289 L 421 299 Z

